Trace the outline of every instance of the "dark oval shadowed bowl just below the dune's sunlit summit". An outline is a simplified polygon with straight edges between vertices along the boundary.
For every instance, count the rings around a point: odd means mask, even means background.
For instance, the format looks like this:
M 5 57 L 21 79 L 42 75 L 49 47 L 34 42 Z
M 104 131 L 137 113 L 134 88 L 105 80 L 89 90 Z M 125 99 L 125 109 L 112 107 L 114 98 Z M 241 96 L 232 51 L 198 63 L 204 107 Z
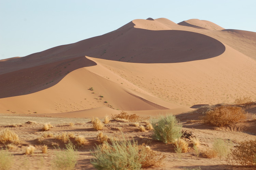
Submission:
M 188 31 L 133 29 L 105 48 L 101 59 L 132 63 L 179 63 L 221 55 L 225 46 L 216 39 Z

